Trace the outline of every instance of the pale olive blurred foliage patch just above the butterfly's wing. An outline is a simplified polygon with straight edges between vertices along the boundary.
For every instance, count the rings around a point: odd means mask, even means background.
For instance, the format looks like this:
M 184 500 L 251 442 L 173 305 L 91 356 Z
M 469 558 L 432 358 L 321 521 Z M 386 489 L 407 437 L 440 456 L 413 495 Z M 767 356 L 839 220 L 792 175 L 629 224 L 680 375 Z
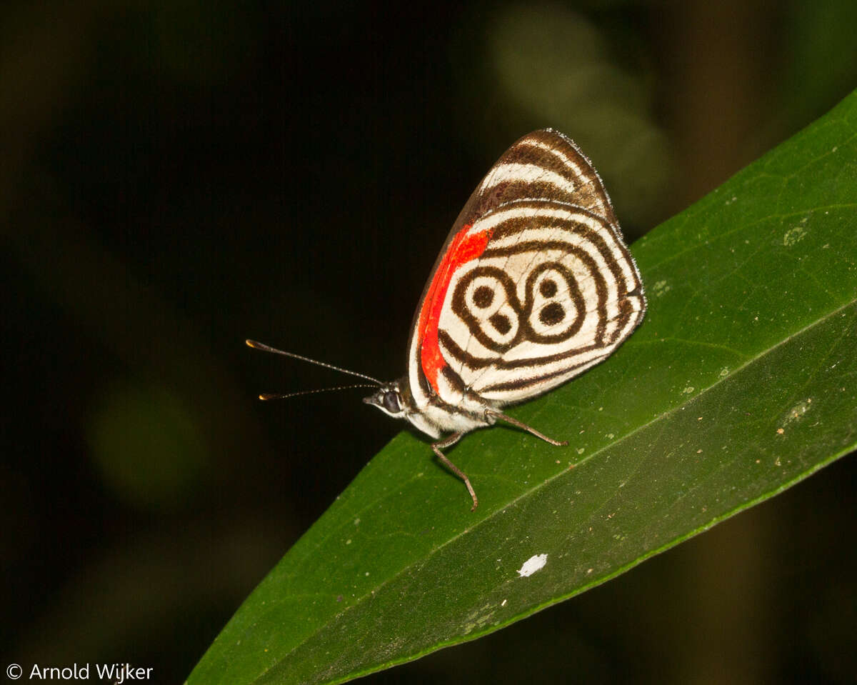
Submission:
M 651 225 L 674 169 L 651 117 L 650 72 L 620 69 L 593 21 L 561 5 L 507 5 L 491 18 L 488 43 L 492 81 L 516 118 L 571 135 L 607 170 L 623 219 Z

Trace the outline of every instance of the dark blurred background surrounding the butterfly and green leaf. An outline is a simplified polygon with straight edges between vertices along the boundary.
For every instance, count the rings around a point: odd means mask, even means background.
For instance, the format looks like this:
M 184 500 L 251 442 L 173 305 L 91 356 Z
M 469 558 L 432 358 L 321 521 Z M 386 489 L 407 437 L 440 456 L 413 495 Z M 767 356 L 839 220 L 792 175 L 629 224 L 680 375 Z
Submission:
M 182 682 L 402 428 L 361 391 L 258 402 L 344 379 L 245 337 L 399 376 L 512 141 L 576 139 L 633 240 L 857 86 L 855 29 L 853 0 L 3 3 L 3 666 Z M 855 476 L 368 681 L 855 682 Z

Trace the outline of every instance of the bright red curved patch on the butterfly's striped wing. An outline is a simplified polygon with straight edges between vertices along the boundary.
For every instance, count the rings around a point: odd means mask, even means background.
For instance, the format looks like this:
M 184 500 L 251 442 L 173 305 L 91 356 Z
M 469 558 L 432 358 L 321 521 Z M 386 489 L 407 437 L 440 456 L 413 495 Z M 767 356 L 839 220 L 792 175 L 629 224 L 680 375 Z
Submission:
M 446 301 L 449 282 L 458 267 L 482 255 L 491 238 L 490 230 L 472 235 L 468 235 L 467 231 L 470 231 L 470 225 L 465 225 L 461 231 L 458 231 L 446 248 L 446 254 L 440 260 L 437 271 L 434 272 L 434 278 L 431 279 L 431 285 L 428 286 L 423 308 L 420 309 L 420 320 L 417 323 L 420 336 L 420 361 L 423 364 L 423 373 L 434 388 L 434 392 L 438 392 L 437 375 L 446 366 L 446 360 L 440 354 L 437 332 L 440 310 L 443 309 L 443 303 Z

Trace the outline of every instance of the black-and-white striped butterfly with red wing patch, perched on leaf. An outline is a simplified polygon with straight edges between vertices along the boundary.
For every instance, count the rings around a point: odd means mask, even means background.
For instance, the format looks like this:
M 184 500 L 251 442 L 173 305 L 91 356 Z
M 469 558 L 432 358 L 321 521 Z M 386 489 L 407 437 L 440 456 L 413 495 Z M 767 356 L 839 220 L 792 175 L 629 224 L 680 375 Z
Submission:
M 503 153 L 458 214 L 414 315 L 405 376 L 380 382 L 247 344 L 375 383 L 363 402 L 432 437 L 473 510 L 479 500 L 470 478 L 441 450 L 498 420 L 566 445 L 500 410 L 602 362 L 645 309 L 601 177 L 572 140 L 542 129 Z

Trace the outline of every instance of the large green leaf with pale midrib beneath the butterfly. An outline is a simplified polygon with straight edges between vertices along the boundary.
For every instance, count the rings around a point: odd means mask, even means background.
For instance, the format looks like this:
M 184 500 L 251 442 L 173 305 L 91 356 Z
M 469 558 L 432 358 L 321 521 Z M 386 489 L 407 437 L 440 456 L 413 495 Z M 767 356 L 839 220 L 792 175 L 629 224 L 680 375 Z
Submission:
M 650 307 L 594 370 L 451 451 L 399 435 L 189 683 L 342 682 L 572 597 L 857 442 L 857 96 L 634 245 Z M 546 556 L 544 556 L 546 555 Z M 544 565 L 522 574 L 530 563 Z

